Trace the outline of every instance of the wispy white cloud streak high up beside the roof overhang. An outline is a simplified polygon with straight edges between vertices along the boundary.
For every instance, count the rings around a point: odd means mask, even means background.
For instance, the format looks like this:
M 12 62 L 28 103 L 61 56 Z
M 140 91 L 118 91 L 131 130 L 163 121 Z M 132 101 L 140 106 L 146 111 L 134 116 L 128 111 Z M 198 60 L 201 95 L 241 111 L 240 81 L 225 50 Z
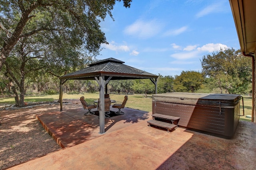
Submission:
M 201 10 L 200 12 L 198 12 L 196 14 L 196 18 L 201 18 L 203 16 L 206 16 L 210 13 L 217 13 L 217 12 L 222 12 L 224 11 L 225 7 L 226 7 L 226 4 L 224 4 L 225 2 L 224 1 L 220 1 L 216 4 L 212 4 L 210 6 L 207 6 L 206 8 L 204 8 L 203 10 Z

